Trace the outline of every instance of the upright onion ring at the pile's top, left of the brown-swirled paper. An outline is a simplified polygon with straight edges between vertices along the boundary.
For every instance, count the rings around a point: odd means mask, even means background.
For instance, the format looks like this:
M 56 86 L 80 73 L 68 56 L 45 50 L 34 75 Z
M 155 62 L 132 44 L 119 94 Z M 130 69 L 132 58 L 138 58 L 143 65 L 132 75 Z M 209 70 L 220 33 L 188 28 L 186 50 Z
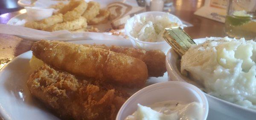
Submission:
M 99 14 L 99 8 L 100 8 L 99 3 L 90 1 L 88 3 L 87 9 L 82 14 L 82 17 L 86 18 L 87 21 L 89 22 Z

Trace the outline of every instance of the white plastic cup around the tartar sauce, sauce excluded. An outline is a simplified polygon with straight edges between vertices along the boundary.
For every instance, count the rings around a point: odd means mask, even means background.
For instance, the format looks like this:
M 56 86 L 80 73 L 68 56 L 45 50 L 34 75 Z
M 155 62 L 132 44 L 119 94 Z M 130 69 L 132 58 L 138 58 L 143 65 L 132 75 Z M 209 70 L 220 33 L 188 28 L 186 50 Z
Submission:
M 198 102 L 203 105 L 203 120 L 208 115 L 208 101 L 204 93 L 193 86 L 180 81 L 168 81 L 150 85 L 132 95 L 119 110 L 116 120 L 125 120 L 137 110 L 137 104 L 148 106 L 156 102 L 178 100 L 186 103 Z

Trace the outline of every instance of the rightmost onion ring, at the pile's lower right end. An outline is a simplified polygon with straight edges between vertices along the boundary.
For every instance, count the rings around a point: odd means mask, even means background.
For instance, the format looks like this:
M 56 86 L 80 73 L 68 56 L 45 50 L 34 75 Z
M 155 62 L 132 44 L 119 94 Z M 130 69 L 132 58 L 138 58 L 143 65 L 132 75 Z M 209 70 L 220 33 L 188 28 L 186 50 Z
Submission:
M 110 15 L 110 12 L 108 10 L 99 10 L 99 14 L 90 20 L 88 25 L 97 25 L 108 22 L 108 17 Z

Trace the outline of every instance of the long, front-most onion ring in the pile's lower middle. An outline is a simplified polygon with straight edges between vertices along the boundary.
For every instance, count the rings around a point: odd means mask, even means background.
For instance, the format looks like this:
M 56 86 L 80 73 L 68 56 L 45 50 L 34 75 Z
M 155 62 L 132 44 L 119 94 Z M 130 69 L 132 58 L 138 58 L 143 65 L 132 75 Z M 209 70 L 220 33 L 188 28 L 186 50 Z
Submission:
M 55 25 L 52 25 L 49 28 L 45 28 L 44 31 L 60 31 L 60 30 L 67 30 L 67 31 L 73 31 L 80 28 L 86 28 L 87 22 L 84 17 L 79 17 L 76 20 L 68 21 L 68 22 L 62 22 Z

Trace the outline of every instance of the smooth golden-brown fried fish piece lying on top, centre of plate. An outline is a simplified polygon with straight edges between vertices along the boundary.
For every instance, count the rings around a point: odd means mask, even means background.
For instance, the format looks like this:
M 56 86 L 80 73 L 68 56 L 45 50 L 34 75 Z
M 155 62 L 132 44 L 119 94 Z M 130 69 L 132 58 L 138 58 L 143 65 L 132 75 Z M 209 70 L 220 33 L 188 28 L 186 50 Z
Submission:
M 142 87 L 148 78 L 143 61 L 110 50 L 45 40 L 35 42 L 31 50 L 36 58 L 76 75 L 129 87 Z

